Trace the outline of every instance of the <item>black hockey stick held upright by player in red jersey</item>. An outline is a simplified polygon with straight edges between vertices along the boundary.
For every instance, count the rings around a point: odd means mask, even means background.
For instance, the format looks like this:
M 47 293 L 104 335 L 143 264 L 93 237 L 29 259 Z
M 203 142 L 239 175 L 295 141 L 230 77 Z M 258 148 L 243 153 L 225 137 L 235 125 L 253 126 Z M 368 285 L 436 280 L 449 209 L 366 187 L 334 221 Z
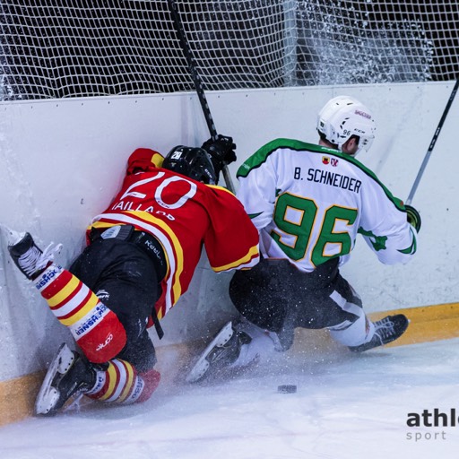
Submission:
M 195 91 L 199 98 L 199 102 L 201 103 L 201 108 L 203 109 L 205 122 L 207 123 L 207 127 L 209 128 L 209 133 L 211 134 L 212 139 L 215 140 L 217 138 L 217 129 L 213 122 L 211 109 L 209 108 L 209 104 L 207 103 L 207 99 L 205 97 L 203 82 L 196 71 L 195 59 L 191 54 L 190 46 L 188 44 L 188 41 L 186 40 L 185 30 L 183 29 L 182 22 L 180 21 L 180 16 L 178 15 L 177 4 L 174 0 L 168 0 L 168 4 L 175 28 L 177 30 L 180 45 L 186 57 L 186 63 L 188 64 L 188 69 L 190 71 L 191 78 L 193 80 L 193 83 L 195 84 Z M 228 166 L 226 164 L 223 165 L 221 171 L 223 172 L 223 177 L 225 178 L 226 186 L 232 193 L 234 193 L 234 186 L 230 177 L 230 171 L 228 170 Z

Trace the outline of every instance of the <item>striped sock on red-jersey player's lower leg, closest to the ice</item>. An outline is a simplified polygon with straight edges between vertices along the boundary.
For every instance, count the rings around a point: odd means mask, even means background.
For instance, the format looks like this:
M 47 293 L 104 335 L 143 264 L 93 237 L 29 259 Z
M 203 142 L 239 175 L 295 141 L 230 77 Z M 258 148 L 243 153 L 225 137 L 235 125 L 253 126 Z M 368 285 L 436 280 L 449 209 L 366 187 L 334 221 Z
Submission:
M 142 375 L 126 360 L 113 359 L 108 368 L 97 372 L 97 384 L 86 395 L 107 403 L 141 403 L 148 400 L 160 384 L 160 373 L 151 369 Z

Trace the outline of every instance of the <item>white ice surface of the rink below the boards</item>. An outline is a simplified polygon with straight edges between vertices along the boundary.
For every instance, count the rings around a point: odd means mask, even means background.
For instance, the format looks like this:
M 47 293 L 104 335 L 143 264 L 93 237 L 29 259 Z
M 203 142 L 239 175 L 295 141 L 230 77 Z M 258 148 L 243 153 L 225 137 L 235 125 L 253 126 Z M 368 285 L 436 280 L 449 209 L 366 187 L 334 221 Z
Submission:
M 457 457 L 459 339 L 280 354 L 212 384 L 167 380 L 142 405 L 86 405 L 0 429 L 2 459 L 430 459 Z M 296 394 L 278 394 L 294 384 Z M 437 427 L 408 427 L 434 409 Z M 433 423 L 433 417 L 428 418 Z M 411 437 L 411 439 L 410 439 Z M 417 437 L 417 438 L 416 438 Z

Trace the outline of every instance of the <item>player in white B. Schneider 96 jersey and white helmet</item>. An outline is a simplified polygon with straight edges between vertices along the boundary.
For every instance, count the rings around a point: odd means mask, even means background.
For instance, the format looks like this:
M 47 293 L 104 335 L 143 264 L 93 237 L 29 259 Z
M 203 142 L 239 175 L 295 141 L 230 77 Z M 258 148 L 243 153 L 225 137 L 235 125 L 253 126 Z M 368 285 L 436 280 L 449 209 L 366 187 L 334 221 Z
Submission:
M 326 328 L 357 352 L 392 342 L 407 329 L 401 314 L 370 321 L 339 267 L 358 233 L 380 262 L 407 263 L 416 252 L 420 214 L 355 159 L 375 137 L 367 107 L 348 96 L 329 100 L 317 131 L 318 145 L 277 139 L 238 169 L 238 198 L 260 233 L 263 259 L 233 276 L 230 298 L 241 320 L 215 336 L 189 382 L 288 350 L 296 327 Z

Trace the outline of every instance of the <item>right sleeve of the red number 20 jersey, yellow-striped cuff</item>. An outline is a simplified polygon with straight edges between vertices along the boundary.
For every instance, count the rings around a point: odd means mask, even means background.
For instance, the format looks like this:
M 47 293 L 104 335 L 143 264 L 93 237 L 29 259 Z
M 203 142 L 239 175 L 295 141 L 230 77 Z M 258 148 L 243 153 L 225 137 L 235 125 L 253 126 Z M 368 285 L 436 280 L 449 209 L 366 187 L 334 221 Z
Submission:
M 251 268 L 259 261 L 258 231 L 235 195 L 220 186 L 209 186 L 207 212 L 211 224 L 204 247 L 216 273 Z

